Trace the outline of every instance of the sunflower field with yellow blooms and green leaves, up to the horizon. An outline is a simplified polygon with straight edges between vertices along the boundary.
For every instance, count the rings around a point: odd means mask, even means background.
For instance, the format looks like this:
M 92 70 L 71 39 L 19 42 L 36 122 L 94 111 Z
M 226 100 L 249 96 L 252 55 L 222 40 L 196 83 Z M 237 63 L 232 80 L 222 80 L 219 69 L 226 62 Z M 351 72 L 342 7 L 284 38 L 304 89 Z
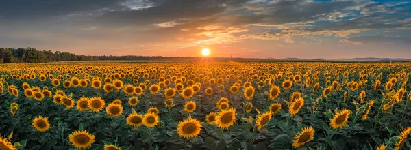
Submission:
M 0 65 L 0 149 L 410 149 L 411 63 Z

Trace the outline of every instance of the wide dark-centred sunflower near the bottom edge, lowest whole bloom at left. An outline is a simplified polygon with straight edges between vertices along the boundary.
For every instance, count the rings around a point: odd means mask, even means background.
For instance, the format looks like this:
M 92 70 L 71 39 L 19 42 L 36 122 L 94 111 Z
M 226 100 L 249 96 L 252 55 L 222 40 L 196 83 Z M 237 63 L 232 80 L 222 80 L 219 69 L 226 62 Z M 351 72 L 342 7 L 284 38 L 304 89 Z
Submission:
M 95 136 L 88 131 L 78 130 L 70 134 L 69 140 L 71 146 L 76 147 L 77 149 L 87 149 L 95 142 Z

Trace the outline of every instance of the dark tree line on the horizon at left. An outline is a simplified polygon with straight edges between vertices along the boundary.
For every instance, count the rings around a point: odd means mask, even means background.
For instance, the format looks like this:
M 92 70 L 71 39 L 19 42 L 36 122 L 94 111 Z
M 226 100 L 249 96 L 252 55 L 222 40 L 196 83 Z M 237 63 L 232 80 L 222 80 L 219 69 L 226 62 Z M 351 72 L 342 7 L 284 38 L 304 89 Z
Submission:
M 158 60 L 174 57 L 162 56 L 88 56 L 70 52 L 51 52 L 51 50 L 36 50 L 36 48 L 0 48 L 0 63 L 46 63 L 53 61 L 96 61 L 96 60 Z M 175 57 L 177 58 L 177 57 Z

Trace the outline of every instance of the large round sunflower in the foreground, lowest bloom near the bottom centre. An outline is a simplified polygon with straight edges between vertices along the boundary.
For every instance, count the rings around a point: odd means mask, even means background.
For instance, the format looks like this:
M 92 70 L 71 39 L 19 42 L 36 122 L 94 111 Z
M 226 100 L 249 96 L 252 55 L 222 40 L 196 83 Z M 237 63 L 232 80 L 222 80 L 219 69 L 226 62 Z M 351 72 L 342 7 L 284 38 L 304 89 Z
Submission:
M 177 133 L 186 139 L 197 137 L 201 132 L 201 124 L 197 119 L 188 117 L 187 120 L 180 121 L 177 127 Z

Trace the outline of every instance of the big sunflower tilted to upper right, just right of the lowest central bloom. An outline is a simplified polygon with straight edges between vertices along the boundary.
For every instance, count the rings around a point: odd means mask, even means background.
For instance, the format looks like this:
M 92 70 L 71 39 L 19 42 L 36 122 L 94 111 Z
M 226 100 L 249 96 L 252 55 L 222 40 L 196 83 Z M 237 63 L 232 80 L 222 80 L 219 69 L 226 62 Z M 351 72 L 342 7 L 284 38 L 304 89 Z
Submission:
M 228 129 L 230 126 L 234 125 L 236 121 L 236 108 L 228 108 L 227 110 L 221 110 L 219 115 L 216 117 L 216 125 Z

